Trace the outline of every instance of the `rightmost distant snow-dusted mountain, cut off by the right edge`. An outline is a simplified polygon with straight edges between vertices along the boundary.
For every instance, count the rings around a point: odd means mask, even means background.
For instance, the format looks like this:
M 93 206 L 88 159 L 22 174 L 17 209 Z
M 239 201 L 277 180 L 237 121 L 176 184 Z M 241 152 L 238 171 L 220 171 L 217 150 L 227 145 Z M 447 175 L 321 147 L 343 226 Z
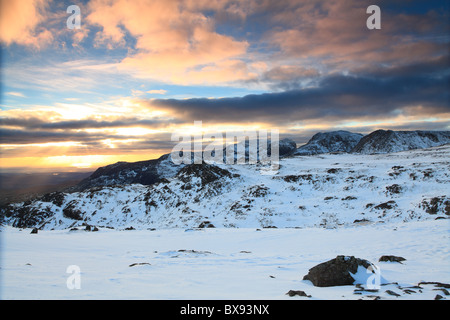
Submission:
M 450 143 L 450 131 L 377 130 L 364 136 L 353 153 L 391 153 L 423 149 Z

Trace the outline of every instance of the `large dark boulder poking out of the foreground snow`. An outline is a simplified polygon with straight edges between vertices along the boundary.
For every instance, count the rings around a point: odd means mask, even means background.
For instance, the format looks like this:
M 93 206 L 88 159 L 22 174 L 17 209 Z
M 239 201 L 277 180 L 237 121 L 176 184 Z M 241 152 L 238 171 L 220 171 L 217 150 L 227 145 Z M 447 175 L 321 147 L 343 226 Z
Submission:
M 316 287 L 331 287 L 352 285 L 358 266 L 369 268 L 372 264 L 364 259 L 354 256 L 337 256 L 336 258 L 323 262 L 309 269 L 303 280 L 311 281 Z

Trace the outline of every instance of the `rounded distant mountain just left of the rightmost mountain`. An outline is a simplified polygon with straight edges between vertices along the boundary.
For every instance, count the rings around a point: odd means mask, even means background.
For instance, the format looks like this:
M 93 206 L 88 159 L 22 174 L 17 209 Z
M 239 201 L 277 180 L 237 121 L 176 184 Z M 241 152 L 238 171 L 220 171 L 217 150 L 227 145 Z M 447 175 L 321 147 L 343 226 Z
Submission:
M 296 155 L 313 155 L 329 152 L 350 152 L 363 137 L 360 133 L 332 131 L 316 133 L 307 144 L 299 147 Z

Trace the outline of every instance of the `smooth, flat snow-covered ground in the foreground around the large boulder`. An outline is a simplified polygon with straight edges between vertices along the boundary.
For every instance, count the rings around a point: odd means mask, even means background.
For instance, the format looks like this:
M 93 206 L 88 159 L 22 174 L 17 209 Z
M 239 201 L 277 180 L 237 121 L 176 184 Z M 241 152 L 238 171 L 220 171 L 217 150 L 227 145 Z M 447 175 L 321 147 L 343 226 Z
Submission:
M 449 220 L 324 228 L 118 231 L 2 227 L 2 299 L 448 299 Z M 380 268 L 377 292 L 302 280 L 337 255 Z M 398 255 L 402 264 L 378 262 Z M 67 273 L 77 266 L 77 273 Z M 386 284 L 387 283 L 387 284 Z M 394 284 L 395 283 L 395 284 Z M 363 288 L 366 286 L 363 284 Z M 438 290 L 436 290 L 438 289 Z M 307 297 L 289 297 L 303 290 Z M 356 290 L 356 291 L 355 291 Z M 393 296 L 388 290 L 399 294 Z M 412 290 L 412 291 L 408 291 Z

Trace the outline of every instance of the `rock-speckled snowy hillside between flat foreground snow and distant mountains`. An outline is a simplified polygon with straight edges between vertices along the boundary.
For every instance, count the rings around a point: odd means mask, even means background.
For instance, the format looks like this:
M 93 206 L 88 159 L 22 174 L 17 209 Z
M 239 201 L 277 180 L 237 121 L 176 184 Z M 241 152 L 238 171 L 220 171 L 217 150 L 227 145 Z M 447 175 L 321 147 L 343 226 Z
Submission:
M 449 159 L 450 146 L 391 154 L 291 156 L 280 160 L 276 175 L 261 175 L 260 165 L 176 168 L 168 159 L 159 159 L 160 166 L 151 170 L 164 179 L 151 185 L 56 192 L 1 210 L 8 225 L 47 230 L 83 225 L 337 228 L 447 218 Z M 162 168 L 167 172 L 158 171 Z

